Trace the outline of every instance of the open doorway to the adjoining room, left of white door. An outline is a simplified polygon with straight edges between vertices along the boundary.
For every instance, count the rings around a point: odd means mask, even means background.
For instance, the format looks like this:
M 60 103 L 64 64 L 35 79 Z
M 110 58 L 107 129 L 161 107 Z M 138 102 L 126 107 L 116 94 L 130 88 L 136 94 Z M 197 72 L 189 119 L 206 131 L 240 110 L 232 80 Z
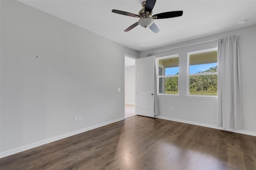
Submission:
M 132 117 L 135 114 L 135 85 L 136 68 L 135 59 L 124 56 L 124 118 Z

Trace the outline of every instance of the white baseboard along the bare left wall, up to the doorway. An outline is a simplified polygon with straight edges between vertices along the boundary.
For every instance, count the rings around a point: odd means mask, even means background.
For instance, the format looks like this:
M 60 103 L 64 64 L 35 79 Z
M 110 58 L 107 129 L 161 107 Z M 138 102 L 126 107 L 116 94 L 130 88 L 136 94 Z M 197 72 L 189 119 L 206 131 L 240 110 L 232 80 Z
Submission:
M 124 120 L 124 117 L 122 118 L 119 118 L 119 119 L 115 119 L 113 121 L 108 121 L 108 122 L 105 122 L 105 123 L 101 123 L 101 124 L 98 124 L 98 125 L 94 125 L 94 126 L 91 126 L 91 127 L 87 127 L 87 128 L 82 128 L 80 130 L 76 130 L 76 131 L 73 131 L 73 132 L 69 132 L 69 133 L 66 133 L 66 134 L 62 134 L 62 135 L 59 135 L 59 136 L 55 136 L 53 138 L 48 138 L 48 139 L 45 139 L 45 140 L 41 140 L 39 142 L 35 142 L 35 143 L 32 143 L 32 144 L 27 144 L 27 145 L 24 145 L 24 146 L 20 146 L 18 148 L 14 148 L 14 149 L 11 149 L 11 150 L 7 150 L 7 151 L 4 151 L 4 152 L 1 152 L 0 153 L 0 158 L 3 158 L 5 156 L 9 156 L 9 155 L 12 155 L 12 154 L 16 154 L 18 152 L 22 152 L 24 150 L 28 150 L 28 149 L 31 149 L 31 148 L 35 148 L 35 147 L 38 147 L 38 146 L 41 146 L 43 144 L 48 144 L 50 142 L 54 142 L 56 140 L 60 140 L 60 139 L 63 139 L 63 138 L 67 138 L 69 136 L 73 136 L 73 135 L 76 135 L 76 134 L 79 134 L 79 133 L 82 133 L 82 132 L 86 132 L 88 130 L 92 130 L 94 128 L 98 128 L 98 127 L 102 127 L 102 126 L 105 126 L 105 125 L 108 125 L 108 124 L 111 124 L 111 123 L 115 123 L 115 122 L 118 122 L 118 121 L 122 121 Z

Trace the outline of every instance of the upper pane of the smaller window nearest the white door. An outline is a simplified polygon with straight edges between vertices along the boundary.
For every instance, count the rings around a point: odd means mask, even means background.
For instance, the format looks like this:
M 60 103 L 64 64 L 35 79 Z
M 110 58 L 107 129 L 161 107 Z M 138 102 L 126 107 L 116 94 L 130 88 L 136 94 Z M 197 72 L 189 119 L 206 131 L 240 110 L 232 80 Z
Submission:
M 158 63 L 158 75 L 178 75 L 179 57 L 159 59 Z

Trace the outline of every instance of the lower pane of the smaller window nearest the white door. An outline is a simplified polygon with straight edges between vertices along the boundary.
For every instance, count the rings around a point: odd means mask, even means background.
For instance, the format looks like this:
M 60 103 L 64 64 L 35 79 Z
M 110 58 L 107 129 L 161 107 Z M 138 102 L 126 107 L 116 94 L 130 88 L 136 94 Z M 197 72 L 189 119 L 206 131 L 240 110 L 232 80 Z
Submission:
M 159 77 L 159 93 L 178 94 L 178 76 Z

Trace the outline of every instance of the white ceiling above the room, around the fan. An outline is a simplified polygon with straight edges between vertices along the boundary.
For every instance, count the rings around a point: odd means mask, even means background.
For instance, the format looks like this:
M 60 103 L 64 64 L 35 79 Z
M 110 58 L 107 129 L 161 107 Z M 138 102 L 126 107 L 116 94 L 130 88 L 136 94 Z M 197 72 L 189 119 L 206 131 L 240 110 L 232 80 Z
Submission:
M 157 0 L 154 14 L 183 10 L 181 17 L 154 20 L 157 34 L 140 26 L 124 32 L 138 18 L 111 12 L 138 14 L 142 0 L 19 1 L 137 51 L 256 24 L 256 0 Z M 246 23 L 239 25 L 240 20 Z

